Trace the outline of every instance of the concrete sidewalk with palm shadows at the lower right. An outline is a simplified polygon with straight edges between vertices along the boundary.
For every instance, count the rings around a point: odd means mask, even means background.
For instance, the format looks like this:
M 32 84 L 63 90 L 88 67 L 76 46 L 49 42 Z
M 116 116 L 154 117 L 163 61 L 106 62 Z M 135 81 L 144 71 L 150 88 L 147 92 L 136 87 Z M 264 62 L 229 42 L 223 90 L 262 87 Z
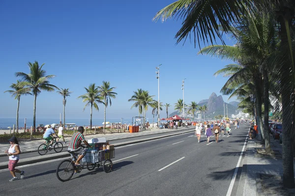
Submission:
M 242 181 L 244 183 L 239 184 L 241 188 L 243 187 L 243 196 L 272 196 L 273 194 L 282 194 L 281 188 L 278 186 L 278 178 L 283 175 L 282 145 L 277 140 L 273 140 L 272 137 L 270 137 L 270 142 L 271 148 L 277 152 L 277 156 L 262 156 L 258 154 L 257 149 L 263 149 L 264 146 L 255 140 L 248 140 L 242 170 L 242 176 L 244 173 L 244 179 Z M 259 176 L 267 176 L 268 174 L 269 176 L 276 175 L 278 178 L 274 179 L 274 177 L 270 177 L 263 182 L 264 185 L 262 186 Z M 269 188 L 265 186 L 267 184 L 270 185 Z

